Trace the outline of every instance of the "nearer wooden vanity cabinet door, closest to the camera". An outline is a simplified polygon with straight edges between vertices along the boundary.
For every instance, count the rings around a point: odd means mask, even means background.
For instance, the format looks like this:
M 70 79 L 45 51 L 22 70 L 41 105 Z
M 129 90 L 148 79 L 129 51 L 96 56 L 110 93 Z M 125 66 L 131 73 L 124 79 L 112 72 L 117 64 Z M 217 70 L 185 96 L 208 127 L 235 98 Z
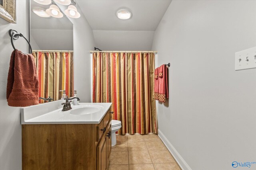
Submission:
M 97 170 L 106 170 L 107 169 L 107 145 L 106 137 L 103 137 L 100 144 L 97 146 Z

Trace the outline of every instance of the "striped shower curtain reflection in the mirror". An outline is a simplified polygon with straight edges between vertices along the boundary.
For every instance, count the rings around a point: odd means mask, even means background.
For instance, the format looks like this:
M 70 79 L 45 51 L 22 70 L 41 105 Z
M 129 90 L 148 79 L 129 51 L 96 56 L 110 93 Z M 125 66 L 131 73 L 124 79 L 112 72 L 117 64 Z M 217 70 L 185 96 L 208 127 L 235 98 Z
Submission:
M 66 90 L 66 95 L 72 97 L 74 94 L 73 75 L 73 52 L 42 52 L 33 51 L 38 70 L 39 97 L 54 100 L 62 97 L 62 92 Z M 39 101 L 44 103 L 43 100 Z

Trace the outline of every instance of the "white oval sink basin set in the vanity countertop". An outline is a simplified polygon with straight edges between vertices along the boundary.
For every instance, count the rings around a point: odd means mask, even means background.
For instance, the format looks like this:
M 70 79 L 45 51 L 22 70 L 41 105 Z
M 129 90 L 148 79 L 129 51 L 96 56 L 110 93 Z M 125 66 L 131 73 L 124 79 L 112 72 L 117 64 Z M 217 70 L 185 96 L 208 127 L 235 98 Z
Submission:
M 82 106 L 78 108 L 74 108 L 70 111 L 72 115 L 87 115 L 92 114 L 100 111 L 103 107 L 102 106 Z

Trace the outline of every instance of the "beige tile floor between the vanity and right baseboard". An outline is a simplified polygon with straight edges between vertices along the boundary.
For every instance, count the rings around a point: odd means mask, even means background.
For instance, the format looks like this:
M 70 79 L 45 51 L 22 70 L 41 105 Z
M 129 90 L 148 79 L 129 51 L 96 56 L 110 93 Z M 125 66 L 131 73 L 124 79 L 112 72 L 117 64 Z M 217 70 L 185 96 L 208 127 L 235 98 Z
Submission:
M 116 135 L 109 170 L 181 170 L 158 135 Z

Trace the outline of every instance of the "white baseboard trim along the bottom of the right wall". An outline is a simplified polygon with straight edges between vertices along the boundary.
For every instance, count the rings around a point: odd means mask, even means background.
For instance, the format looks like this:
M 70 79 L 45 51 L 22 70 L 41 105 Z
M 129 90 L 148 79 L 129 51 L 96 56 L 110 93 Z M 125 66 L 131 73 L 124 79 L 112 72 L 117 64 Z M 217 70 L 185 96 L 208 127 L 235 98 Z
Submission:
M 178 151 L 172 146 L 172 144 L 168 141 L 168 139 L 164 136 L 164 134 L 158 129 L 158 136 L 166 146 L 166 148 L 171 152 L 172 156 L 176 160 L 176 162 L 179 164 L 180 168 L 182 170 L 192 170 L 188 164 L 185 162 L 185 160 L 180 156 Z

